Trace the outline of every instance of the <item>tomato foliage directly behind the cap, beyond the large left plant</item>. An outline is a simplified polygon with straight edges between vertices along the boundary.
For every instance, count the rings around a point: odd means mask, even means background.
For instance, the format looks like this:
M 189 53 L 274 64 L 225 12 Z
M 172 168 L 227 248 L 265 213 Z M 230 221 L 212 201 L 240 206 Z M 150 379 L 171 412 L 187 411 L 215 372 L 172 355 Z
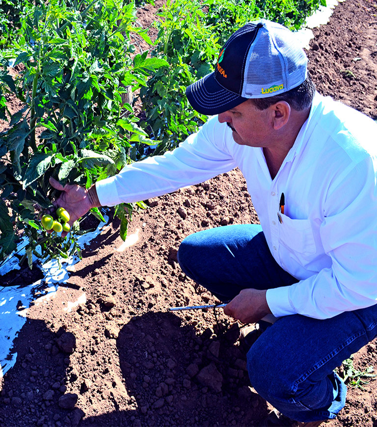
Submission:
M 221 46 L 246 22 L 266 18 L 292 29 L 325 0 L 167 0 L 157 14 L 159 29 L 152 55 L 170 63 L 141 88 L 142 124 L 162 154 L 196 132 L 207 117 L 188 104 L 186 87 L 214 70 Z M 142 152 L 139 153 L 141 157 Z

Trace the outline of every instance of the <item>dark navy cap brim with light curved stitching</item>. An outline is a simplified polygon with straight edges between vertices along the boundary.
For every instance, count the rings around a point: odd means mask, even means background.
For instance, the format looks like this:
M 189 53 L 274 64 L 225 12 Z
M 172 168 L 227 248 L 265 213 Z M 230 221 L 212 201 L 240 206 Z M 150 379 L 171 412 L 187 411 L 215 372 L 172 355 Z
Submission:
M 215 115 L 234 108 L 247 98 L 224 89 L 215 80 L 215 72 L 195 81 L 186 89 L 188 102 L 201 114 Z

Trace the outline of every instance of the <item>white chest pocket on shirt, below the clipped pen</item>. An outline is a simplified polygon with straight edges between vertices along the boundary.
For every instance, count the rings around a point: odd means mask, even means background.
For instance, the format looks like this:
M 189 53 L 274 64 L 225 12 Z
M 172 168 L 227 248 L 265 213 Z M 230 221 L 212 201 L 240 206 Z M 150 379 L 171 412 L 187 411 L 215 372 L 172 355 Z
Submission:
M 312 255 L 316 252 L 310 219 L 292 219 L 281 214 L 279 224 L 279 243 L 291 252 Z

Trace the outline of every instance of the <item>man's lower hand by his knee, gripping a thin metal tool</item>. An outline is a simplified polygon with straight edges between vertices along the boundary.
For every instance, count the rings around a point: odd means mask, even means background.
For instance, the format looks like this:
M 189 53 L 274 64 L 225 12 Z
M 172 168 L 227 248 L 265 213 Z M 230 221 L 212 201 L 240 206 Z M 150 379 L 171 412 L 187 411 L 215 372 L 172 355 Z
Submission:
M 266 290 L 242 289 L 225 307 L 224 314 L 242 323 L 255 323 L 271 313 Z

